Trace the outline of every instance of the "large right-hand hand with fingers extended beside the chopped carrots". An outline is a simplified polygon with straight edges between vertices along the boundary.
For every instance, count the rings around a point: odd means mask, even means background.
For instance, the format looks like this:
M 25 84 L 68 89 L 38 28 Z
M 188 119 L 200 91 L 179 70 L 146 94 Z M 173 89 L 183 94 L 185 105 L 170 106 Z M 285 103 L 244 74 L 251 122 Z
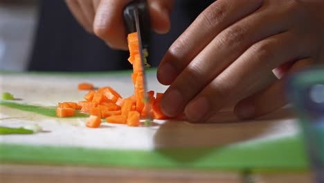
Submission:
M 287 73 L 324 59 L 323 12 L 323 0 L 216 1 L 159 66 L 159 82 L 170 85 L 161 100 L 163 113 L 184 111 L 202 122 L 232 101 L 239 101 L 235 114 L 241 119 L 282 107 Z M 249 90 L 272 70 L 278 80 L 256 93 Z

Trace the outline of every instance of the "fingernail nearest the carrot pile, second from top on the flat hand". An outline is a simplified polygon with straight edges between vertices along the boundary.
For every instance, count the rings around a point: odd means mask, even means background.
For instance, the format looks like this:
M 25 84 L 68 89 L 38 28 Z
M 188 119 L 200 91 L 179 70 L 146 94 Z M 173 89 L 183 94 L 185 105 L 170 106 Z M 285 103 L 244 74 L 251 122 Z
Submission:
M 161 100 L 161 110 L 162 112 L 169 116 L 177 116 L 181 112 L 181 105 L 183 103 L 183 97 L 181 96 L 178 89 L 173 89 L 168 94 L 165 94 Z

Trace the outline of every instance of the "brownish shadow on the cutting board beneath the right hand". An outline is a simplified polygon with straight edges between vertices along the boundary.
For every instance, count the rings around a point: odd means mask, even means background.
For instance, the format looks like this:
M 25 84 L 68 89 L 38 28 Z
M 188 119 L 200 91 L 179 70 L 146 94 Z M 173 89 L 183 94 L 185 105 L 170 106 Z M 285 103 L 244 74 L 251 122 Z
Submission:
M 251 121 L 239 121 L 228 111 L 219 112 L 207 123 L 167 121 L 154 135 L 154 144 L 161 155 L 186 164 L 225 146 L 294 132 L 292 119 L 291 112 L 282 109 Z

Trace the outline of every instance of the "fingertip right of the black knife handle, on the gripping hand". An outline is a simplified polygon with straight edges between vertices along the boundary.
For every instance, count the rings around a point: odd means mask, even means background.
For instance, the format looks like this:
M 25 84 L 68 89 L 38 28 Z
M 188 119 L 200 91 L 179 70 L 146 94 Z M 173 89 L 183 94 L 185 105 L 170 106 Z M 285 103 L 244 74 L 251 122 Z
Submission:
M 171 27 L 170 13 L 173 0 L 147 0 L 150 10 L 152 29 L 156 33 L 168 33 Z

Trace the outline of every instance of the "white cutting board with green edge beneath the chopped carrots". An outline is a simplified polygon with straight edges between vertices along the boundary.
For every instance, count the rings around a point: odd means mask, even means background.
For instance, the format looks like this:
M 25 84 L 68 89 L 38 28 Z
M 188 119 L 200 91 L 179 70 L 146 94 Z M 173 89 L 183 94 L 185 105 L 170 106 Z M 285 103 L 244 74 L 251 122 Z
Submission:
M 78 102 L 87 92 L 78 83 L 110 86 L 122 96 L 134 93 L 130 71 L 109 73 L 5 73 L 1 91 L 15 101 L 0 101 L 0 125 L 38 124 L 37 134 L 1 135 L 3 163 L 136 168 L 186 168 L 211 171 L 304 171 L 308 169 L 298 121 L 283 108 L 251 121 L 223 110 L 207 123 L 154 120 L 138 128 L 104 123 L 87 128 L 87 116 L 57 118 L 55 106 Z M 149 89 L 164 92 L 155 70 Z

